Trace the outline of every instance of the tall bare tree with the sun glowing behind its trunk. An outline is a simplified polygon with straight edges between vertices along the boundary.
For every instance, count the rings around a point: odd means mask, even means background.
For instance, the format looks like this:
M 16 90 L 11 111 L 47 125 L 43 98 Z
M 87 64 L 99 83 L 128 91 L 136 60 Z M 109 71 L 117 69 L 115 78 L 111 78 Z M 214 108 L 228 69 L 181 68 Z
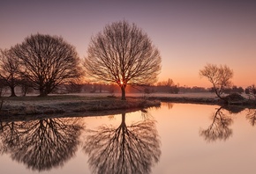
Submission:
M 161 56 L 147 34 L 135 24 L 120 21 L 106 25 L 92 38 L 84 65 L 89 76 L 117 83 L 125 100 L 125 87 L 150 84 L 161 70 Z

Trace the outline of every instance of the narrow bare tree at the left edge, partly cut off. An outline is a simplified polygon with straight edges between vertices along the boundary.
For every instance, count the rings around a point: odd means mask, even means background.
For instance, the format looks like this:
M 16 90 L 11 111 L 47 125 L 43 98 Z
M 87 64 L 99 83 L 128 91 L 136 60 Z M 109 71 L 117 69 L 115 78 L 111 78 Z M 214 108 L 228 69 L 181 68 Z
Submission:
M 10 87 L 11 97 L 16 97 L 15 87 L 19 84 L 19 60 L 10 50 L 0 50 L 0 78 Z

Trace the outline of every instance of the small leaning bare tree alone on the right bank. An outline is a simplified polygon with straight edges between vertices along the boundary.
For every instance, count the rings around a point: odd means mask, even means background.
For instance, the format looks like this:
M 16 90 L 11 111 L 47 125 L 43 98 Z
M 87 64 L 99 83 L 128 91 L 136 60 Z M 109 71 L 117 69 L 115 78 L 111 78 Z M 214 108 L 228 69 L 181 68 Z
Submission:
M 207 77 L 208 81 L 213 84 L 217 97 L 224 100 L 225 98 L 222 97 L 223 90 L 231 86 L 231 78 L 234 76 L 234 73 L 226 65 L 217 66 L 208 63 L 204 69 L 200 69 L 200 76 Z

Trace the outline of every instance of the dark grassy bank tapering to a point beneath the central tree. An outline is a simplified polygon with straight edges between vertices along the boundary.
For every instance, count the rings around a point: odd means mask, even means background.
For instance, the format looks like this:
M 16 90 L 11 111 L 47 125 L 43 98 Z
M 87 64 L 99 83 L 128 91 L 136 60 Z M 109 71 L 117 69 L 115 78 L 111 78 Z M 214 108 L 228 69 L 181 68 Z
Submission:
M 142 98 L 85 97 L 77 95 L 58 95 L 45 98 L 19 97 L 0 98 L 3 101 L 0 115 L 28 115 L 69 112 L 99 112 L 108 110 L 142 109 L 160 106 L 160 101 Z

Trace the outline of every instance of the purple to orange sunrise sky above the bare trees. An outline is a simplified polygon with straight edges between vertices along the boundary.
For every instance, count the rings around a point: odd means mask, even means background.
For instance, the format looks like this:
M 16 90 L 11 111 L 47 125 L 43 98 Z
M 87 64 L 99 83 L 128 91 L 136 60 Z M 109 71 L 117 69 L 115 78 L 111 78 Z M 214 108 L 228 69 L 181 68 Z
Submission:
M 137 25 L 159 49 L 159 81 L 211 87 L 199 71 L 213 63 L 233 69 L 234 85 L 256 84 L 253 0 L 6 0 L 0 3 L 0 48 L 50 34 L 63 37 L 83 59 L 91 37 L 120 20 Z

